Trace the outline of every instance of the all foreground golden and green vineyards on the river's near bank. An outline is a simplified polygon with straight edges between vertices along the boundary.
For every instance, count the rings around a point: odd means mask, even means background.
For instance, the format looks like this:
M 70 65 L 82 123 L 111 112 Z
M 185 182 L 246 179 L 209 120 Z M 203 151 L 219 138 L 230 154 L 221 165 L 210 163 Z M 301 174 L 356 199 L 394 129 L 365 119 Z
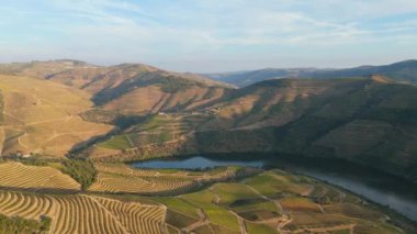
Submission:
M 52 167 L 0 164 L 0 214 L 24 219 L 19 222 L 32 229 L 50 219 L 49 233 L 399 234 L 414 229 L 353 194 L 282 170 L 94 166 L 97 181 L 82 193 Z M 71 183 L 77 194 L 57 193 Z

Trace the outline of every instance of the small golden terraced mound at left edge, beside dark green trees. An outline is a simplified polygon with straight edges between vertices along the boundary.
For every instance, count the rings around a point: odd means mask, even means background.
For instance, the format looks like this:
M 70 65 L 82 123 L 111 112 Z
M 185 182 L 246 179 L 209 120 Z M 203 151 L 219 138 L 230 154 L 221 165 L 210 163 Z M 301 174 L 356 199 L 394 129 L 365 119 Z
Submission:
M 50 167 L 26 166 L 21 163 L 0 164 L 0 188 L 29 191 L 77 192 L 80 185 L 71 177 Z

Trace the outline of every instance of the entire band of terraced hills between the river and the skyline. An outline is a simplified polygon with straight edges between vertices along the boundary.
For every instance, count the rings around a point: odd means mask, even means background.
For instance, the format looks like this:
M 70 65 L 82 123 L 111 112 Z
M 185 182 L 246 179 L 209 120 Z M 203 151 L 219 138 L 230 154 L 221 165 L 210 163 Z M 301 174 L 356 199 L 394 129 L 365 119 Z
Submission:
M 414 64 L 292 70 L 320 78 L 240 89 L 146 65 L 2 65 L 2 154 L 117 161 L 268 152 L 339 157 L 416 180 L 417 90 L 398 82 L 414 80 Z

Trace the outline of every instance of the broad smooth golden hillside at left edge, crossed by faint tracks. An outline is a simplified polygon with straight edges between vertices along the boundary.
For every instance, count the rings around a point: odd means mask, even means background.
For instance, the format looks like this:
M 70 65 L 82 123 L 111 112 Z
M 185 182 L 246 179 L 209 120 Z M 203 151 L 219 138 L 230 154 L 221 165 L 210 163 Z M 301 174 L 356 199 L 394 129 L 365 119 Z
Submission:
M 0 76 L 2 154 L 63 156 L 74 145 L 111 130 L 82 121 L 92 103 L 82 91 L 47 80 Z

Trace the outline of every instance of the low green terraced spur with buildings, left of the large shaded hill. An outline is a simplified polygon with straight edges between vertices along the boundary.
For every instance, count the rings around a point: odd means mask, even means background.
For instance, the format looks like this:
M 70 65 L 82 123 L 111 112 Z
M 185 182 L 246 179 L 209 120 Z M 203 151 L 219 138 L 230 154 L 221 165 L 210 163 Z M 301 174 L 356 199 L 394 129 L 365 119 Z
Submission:
M 146 155 L 150 157 L 171 155 L 187 147 L 184 144 L 192 137 L 196 127 L 210 118 L 211 114 L 207 113 L 153 115 L 143 123 L 132 126 L 127 132 L 91 146 L 88 154 L 92 159 L 115 157 L 119 161 L 144 159 Z

